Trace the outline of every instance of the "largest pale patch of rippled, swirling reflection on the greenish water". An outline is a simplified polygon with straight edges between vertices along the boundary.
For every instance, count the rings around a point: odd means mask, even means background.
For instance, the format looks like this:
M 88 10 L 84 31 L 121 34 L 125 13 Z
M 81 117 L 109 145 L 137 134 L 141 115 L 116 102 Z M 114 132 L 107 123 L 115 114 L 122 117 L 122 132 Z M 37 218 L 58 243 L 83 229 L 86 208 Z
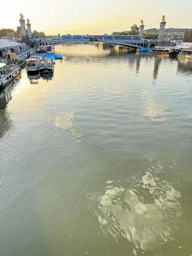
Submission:
M 143 176 L 127 179 L 127 185 L 121 185 L 123 180 L 107 181 L 104 195 L 96 195 L 94 212 L 103 234 L 111 234 L 117 242 L 126 238 L 135 255 L 137 250 L 153 250 L 174 240 L 177 231 L 181 193 L 157 177 L 161 168 L 160 163 L 153 164 Z

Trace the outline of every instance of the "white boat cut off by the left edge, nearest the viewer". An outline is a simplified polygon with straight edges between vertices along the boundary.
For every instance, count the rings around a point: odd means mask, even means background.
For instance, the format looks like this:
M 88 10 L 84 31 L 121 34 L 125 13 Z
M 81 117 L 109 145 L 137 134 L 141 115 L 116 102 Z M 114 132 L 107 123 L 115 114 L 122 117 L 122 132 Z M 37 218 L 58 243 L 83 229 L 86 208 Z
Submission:
M 5 88 L 16 76 L 20 74 L 20 67 L 17 64 L 0 63 L 0 89 Z

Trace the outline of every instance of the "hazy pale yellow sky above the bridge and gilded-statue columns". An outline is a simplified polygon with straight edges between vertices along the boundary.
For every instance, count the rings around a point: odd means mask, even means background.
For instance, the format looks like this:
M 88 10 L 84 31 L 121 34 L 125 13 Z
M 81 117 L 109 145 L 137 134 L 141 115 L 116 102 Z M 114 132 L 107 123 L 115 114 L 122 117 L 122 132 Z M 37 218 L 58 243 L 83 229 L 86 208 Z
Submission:
M 191 0 L 9 0 L 7 5 L 0 28 L 16 30 L 22 12 L 32 30 L 47 35 L 130 30 L 141 19 L 145 28 L 158 28 L 162 15 L 166 27 L 192 28 Z

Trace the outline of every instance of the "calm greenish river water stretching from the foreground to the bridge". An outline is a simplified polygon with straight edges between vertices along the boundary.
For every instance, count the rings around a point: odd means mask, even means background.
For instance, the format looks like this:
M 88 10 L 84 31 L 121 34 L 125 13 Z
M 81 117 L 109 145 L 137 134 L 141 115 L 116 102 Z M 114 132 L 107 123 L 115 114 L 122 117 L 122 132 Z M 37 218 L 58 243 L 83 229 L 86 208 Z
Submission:
M 192 62 L 58 46 L 0 104 L 0 255 L 192 255 Z

